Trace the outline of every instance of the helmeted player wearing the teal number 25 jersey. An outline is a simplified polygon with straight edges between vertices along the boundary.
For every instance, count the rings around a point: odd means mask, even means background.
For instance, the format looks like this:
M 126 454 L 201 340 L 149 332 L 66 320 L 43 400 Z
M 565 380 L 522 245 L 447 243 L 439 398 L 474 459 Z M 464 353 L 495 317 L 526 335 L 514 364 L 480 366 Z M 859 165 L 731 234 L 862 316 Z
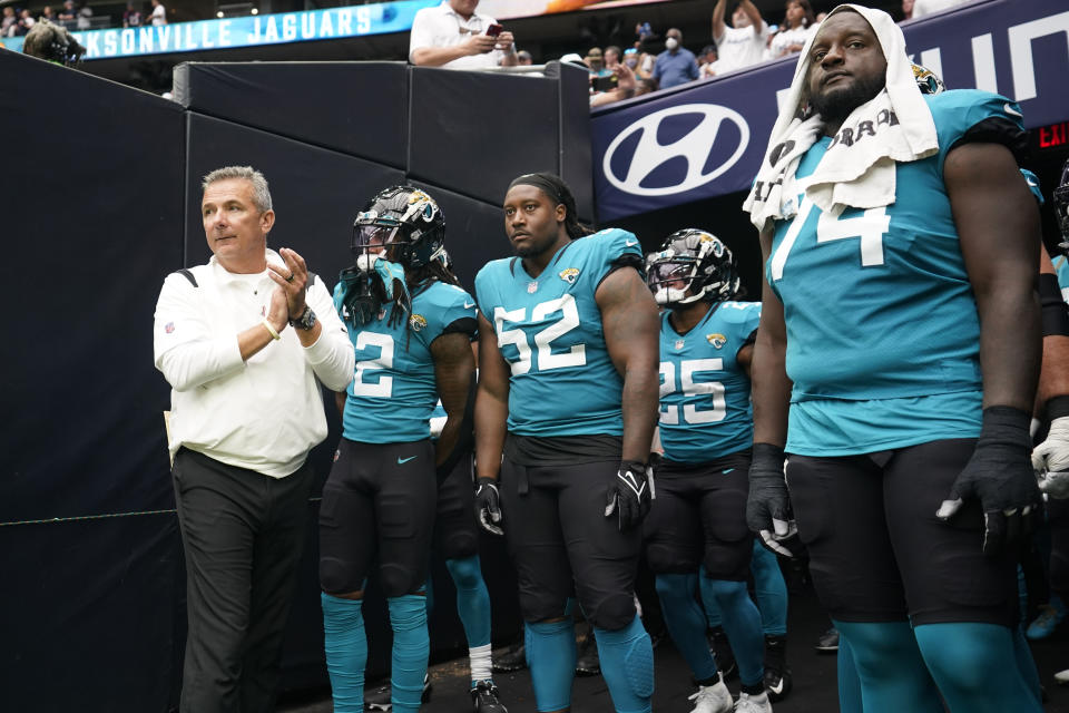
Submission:
M 749 363 L 761 304 L 734 301 L 732 251 L 689 228 L 646 261 L 660 316 L 660 445 L 657 500 L 644 524 L 665 624 L 698 683 L 694 713 L 727 713 L 732 694 L 717 674 L 695 598 L 722 613 L 738 663 L 737 711 L 772 711 L 764 688 L 761 614 L 746 590 L 753 535 L 746 528 L 746 473 L 753 443 Z M 700 573 L 699 573 L 700 569 Z

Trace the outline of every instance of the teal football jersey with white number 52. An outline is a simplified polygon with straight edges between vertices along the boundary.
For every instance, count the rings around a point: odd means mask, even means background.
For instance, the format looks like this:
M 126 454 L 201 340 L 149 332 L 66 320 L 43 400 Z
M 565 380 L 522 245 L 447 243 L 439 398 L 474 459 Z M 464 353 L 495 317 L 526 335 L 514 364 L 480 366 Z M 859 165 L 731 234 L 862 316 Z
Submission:
M 594 294 L 638 238 L 609 228 L 571 241 L 538 277 L 519 257 L 488 263 L 475 276 L 479 310 L 509 363 L 508 429 L 520 436 L 624 432 L 624 381 L 605 344 Z

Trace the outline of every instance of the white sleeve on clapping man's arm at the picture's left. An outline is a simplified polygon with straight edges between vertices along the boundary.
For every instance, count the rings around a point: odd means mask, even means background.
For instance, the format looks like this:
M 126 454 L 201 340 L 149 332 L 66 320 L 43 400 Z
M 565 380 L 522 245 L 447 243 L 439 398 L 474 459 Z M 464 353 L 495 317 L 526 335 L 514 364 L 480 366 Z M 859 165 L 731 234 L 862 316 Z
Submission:
M 153 356 L 175 391 L 188 391 L 245 368 L 237 334 L 213 333 L 203 299 L 203 290 L 173 273 L 156 302 Z

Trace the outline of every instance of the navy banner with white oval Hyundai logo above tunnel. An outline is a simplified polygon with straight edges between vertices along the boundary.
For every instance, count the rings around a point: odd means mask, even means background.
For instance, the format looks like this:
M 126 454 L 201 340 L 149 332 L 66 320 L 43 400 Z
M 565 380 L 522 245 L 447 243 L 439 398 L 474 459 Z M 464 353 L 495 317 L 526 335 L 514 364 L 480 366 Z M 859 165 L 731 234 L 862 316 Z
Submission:
M 950 89 L 1020 102 L 1027 127 L 1069 118 L 1065 0 L 988 0 L 903 23 L 910 57 Z M 596 110 L 600 221 L 748 189 L 797 56 Z

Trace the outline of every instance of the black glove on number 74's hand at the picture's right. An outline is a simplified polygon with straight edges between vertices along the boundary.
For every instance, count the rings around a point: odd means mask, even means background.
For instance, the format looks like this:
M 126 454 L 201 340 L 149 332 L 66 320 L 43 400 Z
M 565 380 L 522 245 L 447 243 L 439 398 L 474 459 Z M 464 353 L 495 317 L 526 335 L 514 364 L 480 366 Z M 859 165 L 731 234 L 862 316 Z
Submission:
M 983 508 L 983 554 L 996 556 L 1031 533 L 1042 498 L 1031 468 L 1031 417 L 1006 406 L 983 410 L 983 424 L 972 458 L 935 516 L 949 520 L 967 498 Z

